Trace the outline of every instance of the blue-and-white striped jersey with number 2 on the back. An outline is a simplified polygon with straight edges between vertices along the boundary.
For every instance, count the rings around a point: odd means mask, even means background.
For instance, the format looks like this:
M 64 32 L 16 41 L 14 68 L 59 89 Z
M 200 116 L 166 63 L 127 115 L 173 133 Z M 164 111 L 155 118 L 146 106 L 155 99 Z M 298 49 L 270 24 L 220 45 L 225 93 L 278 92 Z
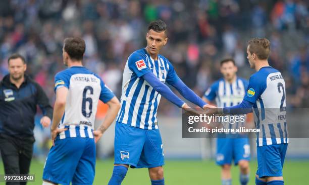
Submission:
M 244 100 L 254 104 L 253 116 L 258 146 L 288 143 L 285 82 L 271 66 L 262 67 L 249 80 Z

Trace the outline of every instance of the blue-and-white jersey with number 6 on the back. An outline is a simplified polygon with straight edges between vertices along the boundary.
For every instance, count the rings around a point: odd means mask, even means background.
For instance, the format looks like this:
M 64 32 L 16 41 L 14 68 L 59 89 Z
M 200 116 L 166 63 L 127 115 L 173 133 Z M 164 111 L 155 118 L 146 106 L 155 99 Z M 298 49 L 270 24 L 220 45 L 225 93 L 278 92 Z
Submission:
M 68 130 L 61 132 L 58 137 L 93 138 L 98 100 L 107 103 L 115 95 L 98 75 L 82 66 L 72 66 L 56 74 L 55 91 L 63 86 L 68 88 L 68 95 L 59 128 Z

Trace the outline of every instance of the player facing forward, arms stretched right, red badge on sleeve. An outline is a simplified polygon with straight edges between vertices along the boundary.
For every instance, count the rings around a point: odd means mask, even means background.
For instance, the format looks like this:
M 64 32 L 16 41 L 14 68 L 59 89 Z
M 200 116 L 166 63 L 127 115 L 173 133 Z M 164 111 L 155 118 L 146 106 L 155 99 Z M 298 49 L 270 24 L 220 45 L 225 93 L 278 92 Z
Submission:
M 151 22 L 146 40 L 145 48 L 129 56 L 123 72 L 121 109 L 115 129 L 115 165 L 109 185 L 121 184 L 129 165 L 148 168 L 151 184 L 164 184 L 163 144 L 157 120 L 161 96 L 179 108 L 190 108 L 165 82 L 195 105 L 209 106 L 181 81 L 171 62 L 159 54 L 168 41 L 166 24 L 161 20 Z

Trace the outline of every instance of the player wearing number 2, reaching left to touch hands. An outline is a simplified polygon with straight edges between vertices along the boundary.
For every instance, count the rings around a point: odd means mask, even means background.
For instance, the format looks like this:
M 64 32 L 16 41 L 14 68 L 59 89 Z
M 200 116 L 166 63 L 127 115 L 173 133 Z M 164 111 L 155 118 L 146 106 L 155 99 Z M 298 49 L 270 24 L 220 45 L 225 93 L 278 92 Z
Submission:
M 255 184 L 284 184 L 282 168 L 288 146 L 285 82 L 281 73 L 268 63 L 270 42 L 254 38 L 248 42 L 247 59 L 257 72 L 249 80 L 241 104 L 223 109 L 209 109 L 207 114 L 246 114 L 253 111 L 256 128 L 258 170 Z M 252 110 L 253 108 L 253 110 Z

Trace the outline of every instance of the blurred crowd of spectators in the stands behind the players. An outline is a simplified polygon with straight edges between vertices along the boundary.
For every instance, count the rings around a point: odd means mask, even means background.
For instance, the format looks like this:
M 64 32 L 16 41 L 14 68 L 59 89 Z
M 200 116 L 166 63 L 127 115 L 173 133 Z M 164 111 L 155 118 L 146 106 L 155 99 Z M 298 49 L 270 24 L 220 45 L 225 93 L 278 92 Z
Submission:
M 162 19 L 168 44 L 162 54 L 198 95 L 221 77 L 220 60 L 233 57 L 244 78 L 254 72 L 246 59 L 247 41 L 271 41 L 270 65 L 282 72 L 290 107 L 309 106 L 309 10 L 305 0 L 2 0 L 0 1 L 0 79 L 8 57 L 26 57 L 27 74 L 54 103 L 54 76 L 65 69 L 63 40 L 86 42 L 84 65 L 121 95 L 128 56 L 146 46 L 147 25 Z M 176 106 L 162 99 L 160 114 Z

